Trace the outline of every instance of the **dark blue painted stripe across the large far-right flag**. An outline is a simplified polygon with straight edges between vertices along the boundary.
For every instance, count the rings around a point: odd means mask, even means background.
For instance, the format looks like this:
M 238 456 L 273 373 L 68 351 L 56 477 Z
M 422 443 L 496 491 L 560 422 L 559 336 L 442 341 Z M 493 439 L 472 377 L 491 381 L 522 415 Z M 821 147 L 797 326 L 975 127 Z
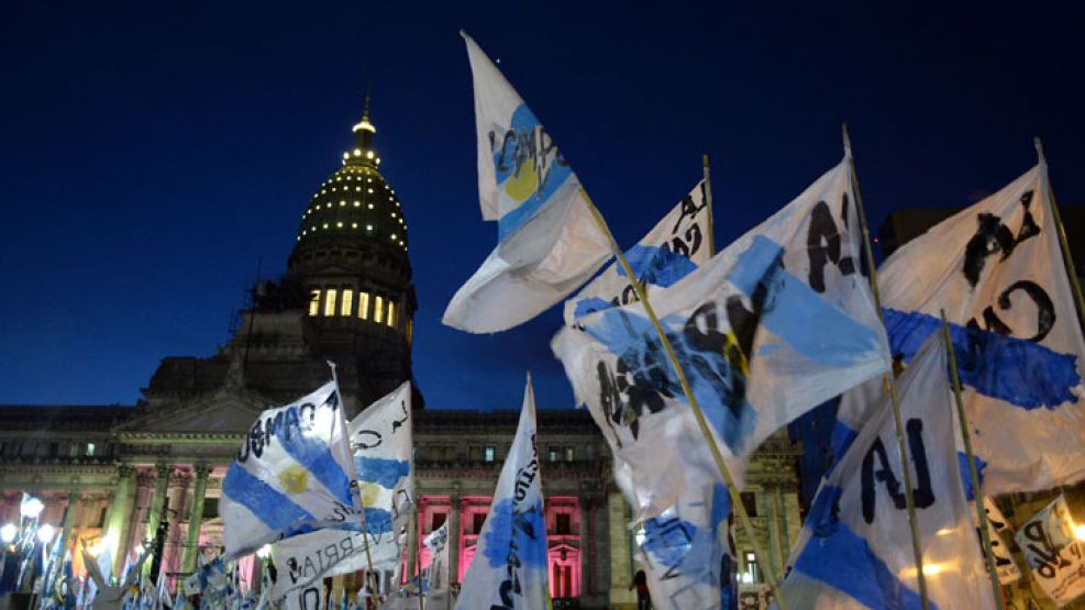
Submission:
M 941 330 L 942 322 L 926 313 L 886 308 L 885 328 L 893 354 L 907 362 L 931 333 Z M 977 392 L 1027 410 L 1077 402 L 1071 391 L 1082 382 L 1075 355 L 960 324 L 950 324 L 950 336 L 961 382 Z

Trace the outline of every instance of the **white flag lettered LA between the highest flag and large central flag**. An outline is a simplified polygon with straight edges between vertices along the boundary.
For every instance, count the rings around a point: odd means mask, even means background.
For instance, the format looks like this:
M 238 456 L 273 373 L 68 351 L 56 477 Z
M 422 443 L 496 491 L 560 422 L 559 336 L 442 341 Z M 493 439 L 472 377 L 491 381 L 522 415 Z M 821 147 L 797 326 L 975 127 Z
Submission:
M 650 298 L 654 287 L 677 284 L 712 257 L 705 181 L 701 180 L 635 246 L 625 252 L 629 265 Z M 633 285 L 617 262 L 565 301 L 565 324 L 593 311 L 629 304 L 636 300 Z

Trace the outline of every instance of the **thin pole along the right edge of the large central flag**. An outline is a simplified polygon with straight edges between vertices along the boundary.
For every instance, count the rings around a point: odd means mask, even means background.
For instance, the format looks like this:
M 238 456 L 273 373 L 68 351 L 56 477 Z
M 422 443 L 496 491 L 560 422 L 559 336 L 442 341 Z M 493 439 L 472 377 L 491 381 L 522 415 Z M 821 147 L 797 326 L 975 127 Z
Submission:
M 866 211 L 863 209 L 863 196 L 859 190 L 859 177 L 855 175 L 855 157 L 852 156 L 852 141 L 848 134 L 848 123 L 841 125 L 844 137 L 844 154 L 851 166 L 852 190 L 855 191 L 855 209 L 859 211 L 859 224 L 863 230 L 863 252 L 866 256 L 866 266 L 871 273 L 871 292 L 874 295 L 874 307 L 877 309 L 878 320 L 885 325 L 882 315 L 882 295 L 878 291 L 877 271 L 874 265 L 874 251 L 871 248 L 871 231 L 866 224 Z M 892 365 L 890 365 L 892 366 Z M 927 575 L 923 574 L 923 548 L 919 542 L 919 520 L 916 518 L 916 499 L 912 497 L 911 488 L 911 457 L 908 445 L 904 437 L 904 422 L 900 418 L 900 402 L 897 400 L 897 385 L 890 368 L 883 377 L 882 381 L 889 390 L 889 404 L 893 407 L 893 421 L 896 424 L 897 450 L 900 453 L 900 469 L 904 470 L 905 506 L 908 509 L 908 526 L 911 530 L 911 551 L 916 557 L 916 584 L 919 587 L 919 599 L 922 601 L 923 610 L 930 608 L 930 599 L 927 594 Z

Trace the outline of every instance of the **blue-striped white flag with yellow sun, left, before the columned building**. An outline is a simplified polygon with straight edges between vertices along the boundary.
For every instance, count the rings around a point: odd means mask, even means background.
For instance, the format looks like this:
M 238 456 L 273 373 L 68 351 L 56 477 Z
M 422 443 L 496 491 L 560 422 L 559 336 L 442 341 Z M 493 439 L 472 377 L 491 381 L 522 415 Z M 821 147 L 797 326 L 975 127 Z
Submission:
M 222 484 L 225 561 L 318 528 L 356 521 L 354 459 L 331 381 L 261 413 Z

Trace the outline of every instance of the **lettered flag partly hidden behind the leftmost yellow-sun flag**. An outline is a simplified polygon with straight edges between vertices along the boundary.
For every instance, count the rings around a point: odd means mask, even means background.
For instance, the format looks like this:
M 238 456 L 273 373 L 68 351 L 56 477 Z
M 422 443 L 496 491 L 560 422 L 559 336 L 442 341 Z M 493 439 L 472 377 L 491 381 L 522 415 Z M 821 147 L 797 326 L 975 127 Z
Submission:
M 400 534 L 413 504 L 411 385 L 405 381 L 351 421 L 351 447 L 365 510 L 348 528 L 324 529 L 272 545 L 277 578 L 272 600 L 321 578 L 368 569 L 395 570 L 403 557 Z M 366 546 L 368 545 L 368 561 Z

